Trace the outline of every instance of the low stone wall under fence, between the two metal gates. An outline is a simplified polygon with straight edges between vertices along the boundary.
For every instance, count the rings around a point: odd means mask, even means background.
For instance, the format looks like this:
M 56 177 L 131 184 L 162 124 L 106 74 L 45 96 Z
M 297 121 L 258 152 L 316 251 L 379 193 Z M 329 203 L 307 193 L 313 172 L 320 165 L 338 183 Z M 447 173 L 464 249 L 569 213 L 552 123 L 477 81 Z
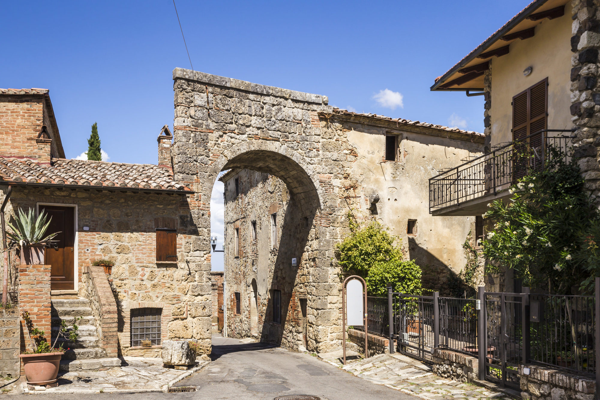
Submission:
M 436 348 L 433 350 L 431 370 L 442 378 L 459 382 L 474 382 L 479 379 L 479 359 L 455 351 Z

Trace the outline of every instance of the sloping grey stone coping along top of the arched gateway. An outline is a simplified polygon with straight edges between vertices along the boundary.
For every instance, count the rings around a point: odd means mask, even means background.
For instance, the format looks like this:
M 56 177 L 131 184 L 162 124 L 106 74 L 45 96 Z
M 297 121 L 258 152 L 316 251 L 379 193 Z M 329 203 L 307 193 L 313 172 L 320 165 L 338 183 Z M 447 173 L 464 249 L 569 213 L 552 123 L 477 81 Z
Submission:
M 173 70 L 173 80 L 177 78 L 194 80 L 195 82 L 208 85 L 223 86 L 226 88 L 244 90 L 251 93 L 272 95 L 276 97 L 290 98 L 298 102 L 314 103 L 327 105 L 329 98 L 320 94 L 311 94 L 298 92 L 295 90 L 276 88 L 275 86 L 259 85 L 245 80 L 233 79 L 224 76 L 207 74 L 200 71 L 187 70 L 185 68 L 175 68 Z

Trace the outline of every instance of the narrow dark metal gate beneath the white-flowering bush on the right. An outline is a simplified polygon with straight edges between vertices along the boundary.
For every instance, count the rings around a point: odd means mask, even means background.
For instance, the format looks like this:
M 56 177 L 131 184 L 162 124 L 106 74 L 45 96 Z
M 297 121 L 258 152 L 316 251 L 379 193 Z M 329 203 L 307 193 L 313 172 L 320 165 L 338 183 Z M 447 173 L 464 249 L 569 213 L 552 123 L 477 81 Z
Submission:
M 484 293 L 485 379 L 515 389 L 520 382 L 518 366 L 524 359 L 523 328 L 529 329 L 522 318 L 526 295 Z

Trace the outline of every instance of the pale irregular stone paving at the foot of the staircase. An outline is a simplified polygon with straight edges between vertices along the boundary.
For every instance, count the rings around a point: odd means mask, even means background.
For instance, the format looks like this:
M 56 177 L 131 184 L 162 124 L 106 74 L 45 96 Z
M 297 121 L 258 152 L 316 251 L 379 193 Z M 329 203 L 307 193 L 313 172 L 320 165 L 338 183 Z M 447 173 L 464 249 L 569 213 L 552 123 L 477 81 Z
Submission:
M 35 386 L 34 390 L 30 390 L 27 384 L 23 384 L 23 393 L 167 392 L 170 386 L 209 363 L 200 360 L 194 368 L 182 371 L 164 368 L 163 359 L 122 358 L 125 362 L 120 367 L 59 372 L 56 387 Z

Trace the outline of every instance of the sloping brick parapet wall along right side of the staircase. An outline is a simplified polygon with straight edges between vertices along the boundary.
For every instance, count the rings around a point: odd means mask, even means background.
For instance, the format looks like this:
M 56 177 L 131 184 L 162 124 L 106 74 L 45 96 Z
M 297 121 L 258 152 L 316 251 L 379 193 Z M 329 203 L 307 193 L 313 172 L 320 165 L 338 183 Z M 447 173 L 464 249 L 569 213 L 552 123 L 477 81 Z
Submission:
M 101 346 L 107 357 L 116 357 L 119 353 L 117 308 L 104 268 L 93 265 L 83 268 L 83 283 L 94 314 Z

